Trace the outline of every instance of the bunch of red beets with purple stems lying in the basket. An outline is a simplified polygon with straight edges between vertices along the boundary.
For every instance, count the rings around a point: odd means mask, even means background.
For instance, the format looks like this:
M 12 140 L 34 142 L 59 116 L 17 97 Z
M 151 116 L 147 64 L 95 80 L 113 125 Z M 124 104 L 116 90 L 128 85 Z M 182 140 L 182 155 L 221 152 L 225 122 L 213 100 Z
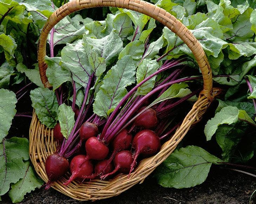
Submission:
M 80 110 L 75 103 L 72 104 L 76 121 L 68 139 L 62 136 L 59 123 L 54 127 L 53 134 L 58 148 L 45 162 L 48 176 L 45 189 L 49 189 L 52 182 L 66 174 L 68 169 L 71 176 L 64 185 L 74 179 L 103 180 L 117 172 L 128 174 L 129 177 L 139 158 L 159 152 L 161 142 L 170 137 L 181 122 L 181 118 L 177 117 L 178 111 L 181 108 L 181 112 L 189 110 L 184 102 L 200 91 L 195 90 L 182 98 L 167 97 L 152 103 L 175 83 L 201 79 L 180 78 L 186 68 L 182 62 L 186 60 L 166 60 L 155 73 L 131 88 L 108 118 L 91 113 L 93 94 L 89 97 L 88 93 L 95 81 L 93 73 Z M 153 89 L 146 95 L 136 95 L 136 90 L 153 77 L 156 77 Z M 73 89 L 75 93 L 75 86 Z

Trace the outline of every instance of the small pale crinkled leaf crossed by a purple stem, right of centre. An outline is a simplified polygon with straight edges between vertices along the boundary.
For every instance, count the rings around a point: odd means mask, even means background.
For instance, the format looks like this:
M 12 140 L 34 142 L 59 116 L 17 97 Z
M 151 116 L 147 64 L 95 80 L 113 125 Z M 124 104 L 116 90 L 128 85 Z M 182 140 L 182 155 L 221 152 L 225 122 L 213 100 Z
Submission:
M 137 83 L 140 83 L 151 74 L 155 73 L 159 67 L 156 60 L 143 59 L 136 72 Z M 143 83 L 136 91 L 136 95 L 146 95 L 155 85 L 156 76 Z

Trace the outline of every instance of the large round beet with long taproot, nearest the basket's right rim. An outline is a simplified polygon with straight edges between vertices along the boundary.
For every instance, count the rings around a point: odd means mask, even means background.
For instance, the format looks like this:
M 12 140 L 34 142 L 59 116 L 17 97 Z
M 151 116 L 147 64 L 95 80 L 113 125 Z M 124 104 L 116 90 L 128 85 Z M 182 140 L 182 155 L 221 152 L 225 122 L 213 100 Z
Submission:
M 134 161 L 132 163 L 130 173 L 132 173 L 136 160 L 140 154 L 150 156 L 159 151 L 161 147 L 160 139 L 152 130 L 141 130 L 135 134 L 132 147 L 135 149 Z M 130 175 L 129 173 L 129 175 Z

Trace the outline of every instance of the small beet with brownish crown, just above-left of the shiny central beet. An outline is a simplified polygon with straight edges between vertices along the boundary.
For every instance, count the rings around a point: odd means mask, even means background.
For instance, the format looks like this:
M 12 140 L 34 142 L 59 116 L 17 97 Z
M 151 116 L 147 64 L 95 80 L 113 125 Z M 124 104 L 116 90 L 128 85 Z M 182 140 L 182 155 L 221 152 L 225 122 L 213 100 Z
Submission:
M 81 146 L 82 142 L 86 141 L 90 137 L 96 137 L 98 133 L 99 130 L 97 125 L 90 122 L 83 123 L 79 130 L 80 141 L 78 146 Z

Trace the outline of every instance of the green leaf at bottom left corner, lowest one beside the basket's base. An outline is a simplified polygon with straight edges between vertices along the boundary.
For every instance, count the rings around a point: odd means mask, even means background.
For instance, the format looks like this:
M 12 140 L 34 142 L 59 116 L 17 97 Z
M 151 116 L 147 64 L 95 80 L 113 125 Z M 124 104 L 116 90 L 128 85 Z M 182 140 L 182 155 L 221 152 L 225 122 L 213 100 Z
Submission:
M 23 168 L 26 170 L 25 175 L 17 183 L 12 184 L 9 191 L 13 203 L 21 202 L 27 193 L 35 190 L 35 188 L 40 188 L 43 184 L 41 178 L 34 173 L 29 161 L 25 162 Z

